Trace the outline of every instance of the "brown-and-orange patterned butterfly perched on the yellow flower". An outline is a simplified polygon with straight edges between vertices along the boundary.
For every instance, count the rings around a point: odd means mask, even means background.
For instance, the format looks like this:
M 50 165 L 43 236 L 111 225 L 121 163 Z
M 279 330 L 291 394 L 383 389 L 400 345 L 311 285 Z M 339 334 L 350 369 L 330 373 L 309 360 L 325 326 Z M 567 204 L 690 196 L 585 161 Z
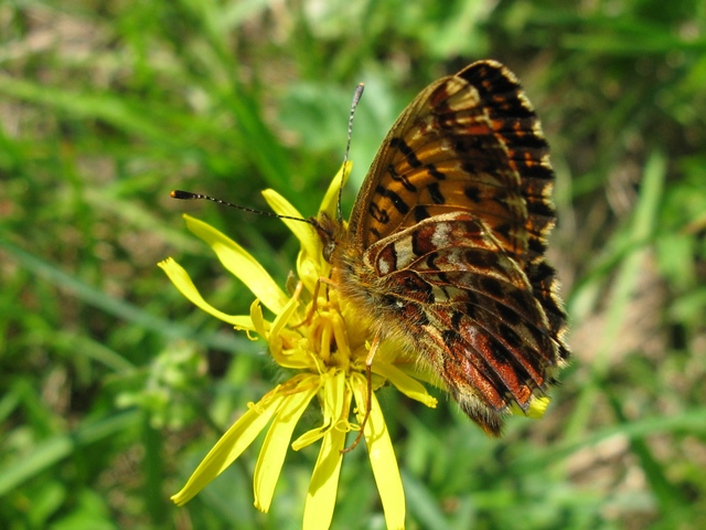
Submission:
M 569 357 L 545 257 L 554 180 L 517 78 L 480 61 L 402 113 L 347 225 L 313 221 L 330 283 L 375 340 L 414 352 L 490 435 L 513 404 L 527 412 Z

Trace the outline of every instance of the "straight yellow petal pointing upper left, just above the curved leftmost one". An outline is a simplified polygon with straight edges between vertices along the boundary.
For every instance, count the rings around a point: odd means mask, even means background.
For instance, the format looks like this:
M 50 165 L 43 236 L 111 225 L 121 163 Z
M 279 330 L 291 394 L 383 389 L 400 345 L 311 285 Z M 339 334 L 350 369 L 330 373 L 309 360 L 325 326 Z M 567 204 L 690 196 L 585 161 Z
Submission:
M 289 297 L 272 277 L 245 248 L 210 224 L 184 215 L 186 226 L 205 241 L 216 253 L 223 266 L 243 282 L 272 312 L 278 314 Z

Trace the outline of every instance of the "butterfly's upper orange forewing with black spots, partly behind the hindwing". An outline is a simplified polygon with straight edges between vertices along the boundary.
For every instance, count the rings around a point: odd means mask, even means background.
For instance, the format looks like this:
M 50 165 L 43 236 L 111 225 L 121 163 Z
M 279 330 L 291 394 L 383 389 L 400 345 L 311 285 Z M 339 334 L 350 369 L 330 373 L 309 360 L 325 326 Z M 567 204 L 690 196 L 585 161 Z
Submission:
M 481 219 L 525 273 L 553 337 L 566 314 L 545 259 L 556 214 L 554 171 L 539 120 L 515 75 L 480 61 L 425 88 L 403 112 L 363 183 L 350 232 L 361 252 L 424 219 Z

